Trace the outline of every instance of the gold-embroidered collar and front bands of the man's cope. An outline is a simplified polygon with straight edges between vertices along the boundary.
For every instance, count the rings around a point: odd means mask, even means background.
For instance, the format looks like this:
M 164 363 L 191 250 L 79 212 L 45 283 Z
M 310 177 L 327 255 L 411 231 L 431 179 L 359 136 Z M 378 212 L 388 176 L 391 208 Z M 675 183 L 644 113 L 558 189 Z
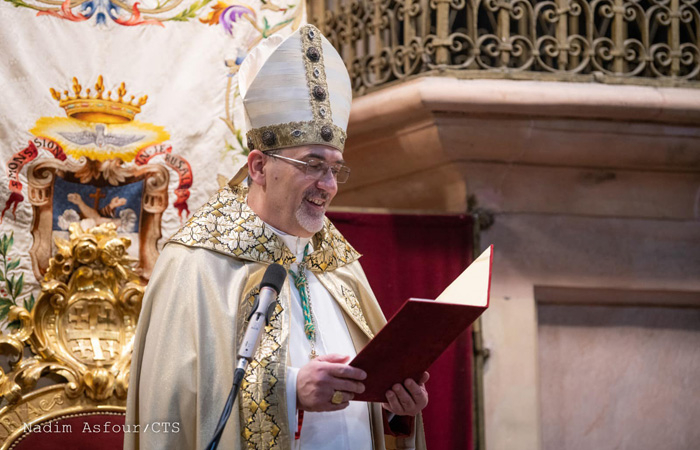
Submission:
M 237 259 L 289 268 L 294 255 L 281 239 L 247 205 L 247 187 L 238 185 L 221 189 L 202 206 L 169 242 L 213 250 Z M 317 274 L 341 308 L 367 339 L 373 332 L 360 301 L 349 282 L 334 276 L 333 271 L 355 262 L 360 254 L 326 219 L 324 227 L 313 237 L 314 251 L 308 256 L 308 268 Z M 245 332 L 258 287 L 251 289 L 240 303 L 237 336 Z M 289 286 L 280 293 L 270 325 L 241 385 L 241 435 L 248 449 L 285 448 L 289 439 L 284 403 L 285 370 L 289 339 Z M 381 319 L 383 321 L 383 317 Z M 376 328 L 376 325 L 375 325 Z

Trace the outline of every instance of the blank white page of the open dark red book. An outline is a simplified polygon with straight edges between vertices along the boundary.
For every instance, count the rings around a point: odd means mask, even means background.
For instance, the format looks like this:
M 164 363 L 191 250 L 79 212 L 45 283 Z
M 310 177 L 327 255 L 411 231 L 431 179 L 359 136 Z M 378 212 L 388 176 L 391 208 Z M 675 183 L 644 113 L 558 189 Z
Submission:
M 466 268 L 435 301 L 457 305 L 487 306 L 491 288 L 491 258 L 489 246 Z

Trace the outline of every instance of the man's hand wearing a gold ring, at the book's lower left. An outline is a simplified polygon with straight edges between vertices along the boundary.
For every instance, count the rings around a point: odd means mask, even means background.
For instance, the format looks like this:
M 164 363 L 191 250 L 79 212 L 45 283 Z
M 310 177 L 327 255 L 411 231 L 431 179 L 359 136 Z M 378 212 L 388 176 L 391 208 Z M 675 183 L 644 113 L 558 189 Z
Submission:
M 299 369 L 297 374 L 297 408 L 304 411 L 338 411 L 345 409 L 355 394 L 365 391 L 361 382 L 364 370 L 347 365 L 349 356 L 319 356 Z M 342 402 L 331 403 L 335 391 L 342 393 Z

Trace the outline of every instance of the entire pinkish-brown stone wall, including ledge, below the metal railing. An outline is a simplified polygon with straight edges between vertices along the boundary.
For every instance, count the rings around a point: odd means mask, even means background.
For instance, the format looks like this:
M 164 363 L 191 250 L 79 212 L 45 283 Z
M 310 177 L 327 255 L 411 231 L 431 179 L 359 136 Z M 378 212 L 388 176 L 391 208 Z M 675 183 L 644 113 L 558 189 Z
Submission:
M 335 205 L 494 214 L 489 450 L 700 446 L 700 91 L 423 78 L 355 99 L 348 135 Z

